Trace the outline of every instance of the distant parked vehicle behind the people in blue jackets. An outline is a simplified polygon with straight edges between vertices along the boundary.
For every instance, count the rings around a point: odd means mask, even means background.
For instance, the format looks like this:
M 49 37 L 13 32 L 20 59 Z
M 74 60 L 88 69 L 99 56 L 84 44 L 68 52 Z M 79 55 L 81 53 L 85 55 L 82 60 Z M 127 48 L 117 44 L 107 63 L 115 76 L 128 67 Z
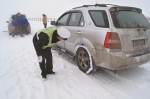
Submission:
M 15 27 L 12 25 L 13 17 L 14 17 L 14 16 L 15 16 L 15 14 L 14 14 L 14 15 L 11 15 L 9 21 L 6 21 L 6 22 L 8 23 L 8 32 L 9 32 L 10 35 L 11 35 L 11 33 L 16 32 L 16 31 L 15 31 Z M 21 14 L 21 16 L 25 16 L 25 17 L 26 17 L 26 15 L 24 15 L 24 14 Z M 30 26 L 30 23 L 29 23 L 29 25 L 28 25 L 28 27 L 27 27 L 27 30 L 29 31 L 29 33 L 31 33 L 31 26 Z

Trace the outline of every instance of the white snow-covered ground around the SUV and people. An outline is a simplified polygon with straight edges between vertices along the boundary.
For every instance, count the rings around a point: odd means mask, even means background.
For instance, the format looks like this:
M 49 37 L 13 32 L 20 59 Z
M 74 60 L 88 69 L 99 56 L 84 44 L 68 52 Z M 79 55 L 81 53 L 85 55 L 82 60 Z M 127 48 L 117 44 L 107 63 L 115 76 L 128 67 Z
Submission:
M 0 26 L 0 99 L 150 99 L 150 63 L 117 71 L 82 73 L 69 55 L 52 50 L 54 71 L 43 80 L 32 44 L 42 22 L 30 21 L 32 34 L 8 35 Z

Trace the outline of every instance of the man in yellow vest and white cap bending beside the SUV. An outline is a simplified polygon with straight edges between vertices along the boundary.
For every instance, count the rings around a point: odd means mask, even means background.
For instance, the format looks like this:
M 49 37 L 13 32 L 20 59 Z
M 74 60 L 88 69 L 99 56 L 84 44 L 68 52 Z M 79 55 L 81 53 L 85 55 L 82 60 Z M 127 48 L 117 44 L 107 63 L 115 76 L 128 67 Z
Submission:
M 39 30 L 33 37 L 33 45 L 39 59 L 42 78 L 53 72 L 51 47 L 61 40 L 67 40 L 70 32 L 66 28 L 46 28 Z

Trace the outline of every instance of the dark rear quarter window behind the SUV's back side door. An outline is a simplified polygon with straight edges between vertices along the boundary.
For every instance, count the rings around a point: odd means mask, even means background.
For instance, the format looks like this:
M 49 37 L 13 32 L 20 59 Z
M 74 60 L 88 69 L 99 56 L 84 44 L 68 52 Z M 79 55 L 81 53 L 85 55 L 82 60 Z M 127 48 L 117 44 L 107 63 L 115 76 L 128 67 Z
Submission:
M 107 14 L 103 10 L 90 10 L 89 14 L 97 27 L 109 28 Z

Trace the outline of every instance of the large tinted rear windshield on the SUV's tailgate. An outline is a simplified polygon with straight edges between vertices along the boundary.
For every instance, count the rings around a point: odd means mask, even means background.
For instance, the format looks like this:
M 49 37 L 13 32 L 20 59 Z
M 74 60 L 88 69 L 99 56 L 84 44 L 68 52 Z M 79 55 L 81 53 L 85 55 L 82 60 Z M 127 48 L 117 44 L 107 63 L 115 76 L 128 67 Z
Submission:
M 111 11 L 116 28 L 149 28 L 150 23 L 144 15 L 135 11 Z

